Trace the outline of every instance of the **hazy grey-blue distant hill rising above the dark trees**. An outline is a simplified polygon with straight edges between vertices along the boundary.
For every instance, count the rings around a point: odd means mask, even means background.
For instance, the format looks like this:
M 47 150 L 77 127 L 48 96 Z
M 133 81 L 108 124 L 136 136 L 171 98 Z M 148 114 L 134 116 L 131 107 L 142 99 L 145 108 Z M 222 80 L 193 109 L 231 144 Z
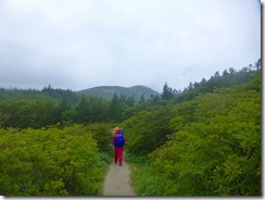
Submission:
M 146 86 L 132 86 L 128 88 L 121 86 L 99 86 L 77 91 L 77 93 L 98 96 L 108 100 L 111 100 L 114 93 L 117 96 L 123 95 L 127 97 L 135 96 L 136 101 L 139 101 L 142 95 L 144 99 L 149 99 L 151 96 L 160 95 L 157 91 L 154 91 L 153 89 Z

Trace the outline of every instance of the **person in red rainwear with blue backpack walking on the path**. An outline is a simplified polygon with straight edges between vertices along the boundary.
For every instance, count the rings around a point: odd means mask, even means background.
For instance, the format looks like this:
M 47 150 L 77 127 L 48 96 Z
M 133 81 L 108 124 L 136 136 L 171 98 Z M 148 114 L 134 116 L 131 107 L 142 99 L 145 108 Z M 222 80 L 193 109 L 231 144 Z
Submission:
M 125 138 L 121 129 L 118 128 L 115 129 L 115 135 L 112 138 L 112 143 L 114 147 L 114 162 L 115 164 L 118 163 L 119 166 L 122 166 Z

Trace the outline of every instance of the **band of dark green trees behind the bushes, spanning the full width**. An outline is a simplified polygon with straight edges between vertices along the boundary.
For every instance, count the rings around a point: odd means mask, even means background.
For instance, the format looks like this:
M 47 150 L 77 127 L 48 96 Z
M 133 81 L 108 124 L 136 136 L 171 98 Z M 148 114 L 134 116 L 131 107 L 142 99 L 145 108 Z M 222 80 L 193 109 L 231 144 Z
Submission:
M 75 91 L 53 89 L 50 85 L 42 90 L 0 89 L 0 126 L 39 128 L 47 125 L 89 124 L 99 122 L 121 123 L 146 107 L 179 103 L 212 92 L 214 88 L 231 87 L 248 82 L 261 70 L 261 59 L 249 67 L 236 72 L 234 68 L 215 73 L 209 80 L 191 84 L 182 91 L 171 88 L 166 83 L 162 95 L 151 96 L 139 102 L 134 97 L 114 93 L 111 101 L 101 97 L 87 97 Z M 41 114 L 40 114 L 41 113 Z

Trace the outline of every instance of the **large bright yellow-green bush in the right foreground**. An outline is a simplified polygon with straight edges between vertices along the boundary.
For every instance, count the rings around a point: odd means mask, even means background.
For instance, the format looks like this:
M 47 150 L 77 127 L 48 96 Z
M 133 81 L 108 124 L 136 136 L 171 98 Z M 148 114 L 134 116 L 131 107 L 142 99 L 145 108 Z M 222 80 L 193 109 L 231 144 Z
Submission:
M 261 77 L 255 79 L 176 105 L 178 112 L 192 109 L 176 113 L 169 124 L 176 134 L 150 154 L 161 178 L 157 193 L 261 195 Z

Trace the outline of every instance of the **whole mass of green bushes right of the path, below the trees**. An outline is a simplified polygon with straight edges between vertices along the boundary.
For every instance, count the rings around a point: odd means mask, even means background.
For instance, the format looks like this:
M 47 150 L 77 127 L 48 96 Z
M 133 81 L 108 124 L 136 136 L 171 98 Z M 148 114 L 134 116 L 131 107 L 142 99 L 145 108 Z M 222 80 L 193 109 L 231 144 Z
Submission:
M 141 110 L 123 126 L 139 196 L 261 196 L 261 74 Z

